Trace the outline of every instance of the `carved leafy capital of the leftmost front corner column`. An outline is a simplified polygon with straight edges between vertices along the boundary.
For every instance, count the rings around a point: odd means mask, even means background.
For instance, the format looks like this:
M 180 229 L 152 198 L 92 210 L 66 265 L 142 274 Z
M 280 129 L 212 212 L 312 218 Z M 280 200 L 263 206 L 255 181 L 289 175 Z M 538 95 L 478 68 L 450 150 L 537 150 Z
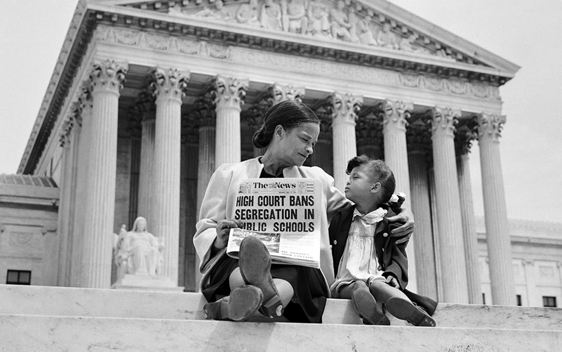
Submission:
M 114 60 L 94 61 L 92 72 L 89 76 L 89 87 L 85 88 L 87 94 L 106 90 L 119 94 L 123 88 L 125 74 L 129 69 L 127 62 Z

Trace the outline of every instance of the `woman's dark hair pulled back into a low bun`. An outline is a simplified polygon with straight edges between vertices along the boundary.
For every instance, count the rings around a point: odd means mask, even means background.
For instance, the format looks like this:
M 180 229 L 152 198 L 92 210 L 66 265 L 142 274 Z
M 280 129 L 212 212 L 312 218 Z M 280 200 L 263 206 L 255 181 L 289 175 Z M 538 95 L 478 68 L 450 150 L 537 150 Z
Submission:
M 256 148 L 267 147 L 277 125 L 282 125 L 285 130 L 291 130 L 309 122 L 320 124 L 320 119 L 308 106 L 298 101 L 282 101 L 265 112 L 264 123 L 253 134 L 252 144 Z

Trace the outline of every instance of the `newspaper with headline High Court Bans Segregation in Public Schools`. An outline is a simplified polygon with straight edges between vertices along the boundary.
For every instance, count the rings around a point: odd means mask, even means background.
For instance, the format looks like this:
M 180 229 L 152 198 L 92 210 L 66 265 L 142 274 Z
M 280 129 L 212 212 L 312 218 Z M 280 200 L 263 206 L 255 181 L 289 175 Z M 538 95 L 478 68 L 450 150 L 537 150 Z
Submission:
M 272 263 L 320 268 L 320 181 L 305 178 L 243 180 L 234 206 L 241 228 L 230 229 L 226 253 L 238 258 L 240 243 L 256 236 Z

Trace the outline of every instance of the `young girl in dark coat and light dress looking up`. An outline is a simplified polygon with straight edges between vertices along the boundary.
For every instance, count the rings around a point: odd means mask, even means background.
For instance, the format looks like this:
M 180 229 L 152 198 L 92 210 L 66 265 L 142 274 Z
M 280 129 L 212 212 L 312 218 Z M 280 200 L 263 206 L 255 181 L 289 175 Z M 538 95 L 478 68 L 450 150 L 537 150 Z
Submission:
M 330 286 L 332 295 L 351 299 L 365 324 L 390 324 L 378 310 L 379 301 L 398 319 L 416 326 L 436 326 L 429 314 L 433 314 L 437 303 L 405 290 L 408 238 L 388 236 L 391 228 L 386 216 L 399 211 L 404 202 L 404 196 L 392 194 L 392 171 L 383 161 L 361 155 L 348 162 L 346 172 L 350 175 L 346 197 L 355 206 L 334 216 L 330 224 L 337 273 Z M 414 305 L 409 296 L 429 314 Z

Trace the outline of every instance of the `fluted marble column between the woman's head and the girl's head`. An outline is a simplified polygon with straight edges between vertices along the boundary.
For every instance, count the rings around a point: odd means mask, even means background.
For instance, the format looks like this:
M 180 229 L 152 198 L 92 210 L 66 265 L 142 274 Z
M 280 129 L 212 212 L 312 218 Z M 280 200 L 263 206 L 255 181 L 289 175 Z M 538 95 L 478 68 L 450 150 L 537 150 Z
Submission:
M 346 186 L 347 161 L 357 155 L 355 121 L 363 103 L 363 97 L 351 94 L 332 93 L 332 146 L 334 155 L 334 185 L 340 191 Z

